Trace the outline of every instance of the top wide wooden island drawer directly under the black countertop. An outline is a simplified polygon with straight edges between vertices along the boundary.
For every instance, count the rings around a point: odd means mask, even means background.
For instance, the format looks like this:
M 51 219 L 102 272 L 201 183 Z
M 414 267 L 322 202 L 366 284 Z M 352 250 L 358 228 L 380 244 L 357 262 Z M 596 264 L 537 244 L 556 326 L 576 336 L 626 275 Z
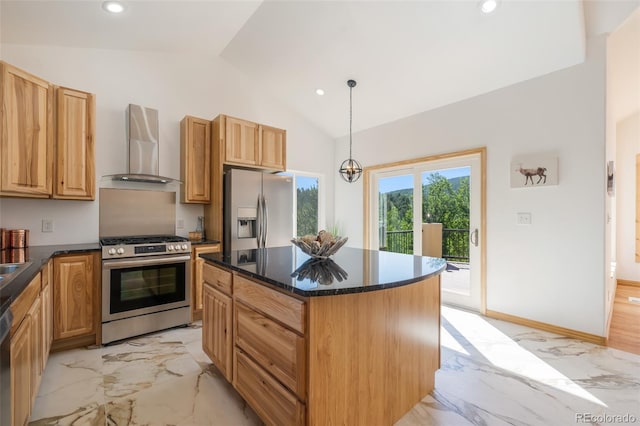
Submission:
M 240 275 L 234 278 L 234 296 L 255 310 L 304 334 L 305 303 L 275 290 L 248 280 Z

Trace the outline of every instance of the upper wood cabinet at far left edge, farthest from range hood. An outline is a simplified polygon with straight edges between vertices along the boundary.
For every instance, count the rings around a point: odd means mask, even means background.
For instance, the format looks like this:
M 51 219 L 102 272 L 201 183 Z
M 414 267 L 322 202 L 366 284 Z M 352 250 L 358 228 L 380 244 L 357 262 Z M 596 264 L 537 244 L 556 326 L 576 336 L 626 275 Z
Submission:
M 0 195 L 48 198 L 53 173 L 53 87 L 0 62 Z

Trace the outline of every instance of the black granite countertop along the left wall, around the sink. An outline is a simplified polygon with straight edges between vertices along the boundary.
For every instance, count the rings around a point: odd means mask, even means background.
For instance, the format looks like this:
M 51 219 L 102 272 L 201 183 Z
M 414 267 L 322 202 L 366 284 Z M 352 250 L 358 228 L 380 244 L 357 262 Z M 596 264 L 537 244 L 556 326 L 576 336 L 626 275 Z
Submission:
M 10 253 L 10 249 L 0 251 L 1 263 L 29 261 L 31 265 L 22 271 L 17 277 L 15 277 L 9 284 L 0 288 L 0 306 L 2 312 L 8 308 L 8 306 L 22 293 L 22 291 L 31 282 L 33 277 L 42 269 L 42 266 L 51 259 L 53 256 L 59 256 L 61 254 L 72 253 L 86 253 L 93 251 L 100 251 L 100 244 L 64 244 L 64 245 L 52 245 L 52 246 L 33 246 L 25 249 L 13 249 L 13 253 Z M 15 250 L 19 250 L 15 252 Z

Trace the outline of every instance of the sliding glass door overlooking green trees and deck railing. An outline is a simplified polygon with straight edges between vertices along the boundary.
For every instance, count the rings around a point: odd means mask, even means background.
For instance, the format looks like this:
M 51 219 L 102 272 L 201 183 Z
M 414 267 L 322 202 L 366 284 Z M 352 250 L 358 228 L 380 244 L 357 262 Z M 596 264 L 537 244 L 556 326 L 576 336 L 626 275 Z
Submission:
M 371 172 L 369 246 L 443 257 L 443 303 L 481 311 L 481 153 Z

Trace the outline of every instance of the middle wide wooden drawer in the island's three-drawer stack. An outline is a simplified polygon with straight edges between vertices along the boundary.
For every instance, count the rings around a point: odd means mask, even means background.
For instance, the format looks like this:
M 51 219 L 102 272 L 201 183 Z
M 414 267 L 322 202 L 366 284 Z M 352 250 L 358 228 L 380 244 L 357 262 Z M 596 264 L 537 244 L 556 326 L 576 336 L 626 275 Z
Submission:
M 304 338 L 242 303 L 234 312 L 236 346 L 304 401 Z

